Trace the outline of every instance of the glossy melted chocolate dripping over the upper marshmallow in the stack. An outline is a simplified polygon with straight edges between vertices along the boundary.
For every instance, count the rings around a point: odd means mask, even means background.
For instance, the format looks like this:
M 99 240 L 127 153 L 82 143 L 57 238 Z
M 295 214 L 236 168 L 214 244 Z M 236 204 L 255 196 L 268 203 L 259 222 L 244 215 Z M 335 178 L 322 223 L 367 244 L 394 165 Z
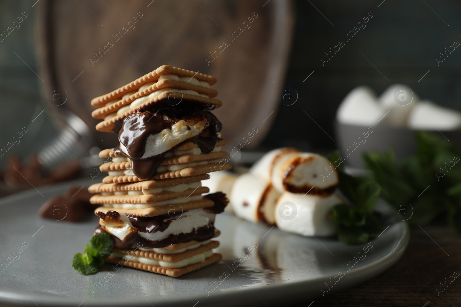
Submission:
M 154 177 L 157 173 L 157 168 L 165 160 L 165 153 L 168 152 L 165 151 L 160 155 L 142 159 L 148 136 L 160 133 L 163 129 L 171 128 L 179 120 L 191 120 L 192 117 L 207 119 L 203 131 L 199 135 L 174 146 L 169 151 L 177 149 L 186 142 L 193 142 L 199 146 L 202 152 L 212 152 L 218 142 L 217 135 L 222 129 L 222 124 L 211 112 L 195 110 L 192 113 L 189 110 L 171 109 L 158 110 L 155 113 L 151 111 L 137 112 L 124 118 L 118 139 L 120 144 L 124 145 L 128 151 L 131 169 L 136 177 L 144 180 Z M 187 127 L 189 130 L 190 127 Z M 117 146 L 113 151 L 117 155 L 126 156 L 120 146 Z

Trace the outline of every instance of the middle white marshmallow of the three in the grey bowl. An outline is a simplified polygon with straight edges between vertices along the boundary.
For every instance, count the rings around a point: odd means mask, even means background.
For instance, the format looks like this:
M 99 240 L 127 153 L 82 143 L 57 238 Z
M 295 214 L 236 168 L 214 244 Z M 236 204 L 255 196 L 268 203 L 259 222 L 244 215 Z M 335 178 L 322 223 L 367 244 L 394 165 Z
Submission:
M 399 87 L 406 87 L 400 89 L 398 93 L 395 93 Z M 402 96 L 402 99 L 412 98 L 411 101 L 399 101 L 397 103 L 396 98 Z M 414 91 L 403 85 L 403 84 L 393 84 L 388 87 L 378 98 L 378 103 L 384 112 L 389 110 L 389 113 L 379 121 L 379 124 L 388 124 L 396 127 L 405 127 L 407 125 L 408 116 L 410 116 L 411 111 L 414 106 L 418 103 L 420 98 L 414 93 Z M 384 113 L 385 114 L 385 113 Z

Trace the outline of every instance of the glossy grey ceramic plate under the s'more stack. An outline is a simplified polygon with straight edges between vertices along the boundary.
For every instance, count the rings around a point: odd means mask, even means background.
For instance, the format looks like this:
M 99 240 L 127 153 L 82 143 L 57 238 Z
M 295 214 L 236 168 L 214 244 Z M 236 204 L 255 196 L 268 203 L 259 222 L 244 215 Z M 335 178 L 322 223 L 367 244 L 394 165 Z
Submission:
M 224 255 L 217 264 L 180 278 L 132 268 L 117 270 L 106 264 L 101 272 L 83 276 L 72 269 L 71 260 L 92 236 L 97 218 L 67 223 L 36 214 L 45 199 L 64 192 L 67 185 L 32 189 L 0 202 L 0 261 L 7 263 L 0 272 L 1 303 L 40 307 L 267 303 L 272 307 L 306 302 L 383 272 L 402 256 L 409 239 L 408 226 L 385 204 L 378 208 L 384 213 L 384 227 L 389 227 L 368 244 L 367 253 L 363 252 L 367 244 L 350 246 L 334 238 L 301 237 L 224 213 L 216 220 L 222 233 L 217 251 Z M 25 244 L 21 253 L 12 255 Z M 249 249 L 252 246 L 257 247 Z M 17 259 L 12 260 L 13 256 Z

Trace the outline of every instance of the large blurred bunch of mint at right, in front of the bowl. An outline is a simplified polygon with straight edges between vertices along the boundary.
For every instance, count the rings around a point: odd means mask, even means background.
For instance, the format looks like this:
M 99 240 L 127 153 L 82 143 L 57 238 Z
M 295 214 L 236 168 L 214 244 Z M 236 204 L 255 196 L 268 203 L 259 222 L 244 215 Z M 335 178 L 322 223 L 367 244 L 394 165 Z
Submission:
M 416 133 L 417 152 L 397 163 L 394 151 L 363 155 L 382 195 L 397 210 L 406 207 L 410 225 L 424 226 L 443 216 L 461 234 L 461 153 L 453 143 L 434 133 Z

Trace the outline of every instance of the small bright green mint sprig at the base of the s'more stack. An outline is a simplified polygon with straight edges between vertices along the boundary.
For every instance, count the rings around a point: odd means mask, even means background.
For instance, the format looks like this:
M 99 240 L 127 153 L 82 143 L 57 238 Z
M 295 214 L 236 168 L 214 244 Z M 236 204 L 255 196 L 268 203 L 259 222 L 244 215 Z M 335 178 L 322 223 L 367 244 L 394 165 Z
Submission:
M 72 259 L 72 267 L 83 275 L 99 272 L 104 259 L 112 252 L 112 238 L 108 233 L 98 233 L 92 237 L 85 248 L 83 255 L 77 253 Z

